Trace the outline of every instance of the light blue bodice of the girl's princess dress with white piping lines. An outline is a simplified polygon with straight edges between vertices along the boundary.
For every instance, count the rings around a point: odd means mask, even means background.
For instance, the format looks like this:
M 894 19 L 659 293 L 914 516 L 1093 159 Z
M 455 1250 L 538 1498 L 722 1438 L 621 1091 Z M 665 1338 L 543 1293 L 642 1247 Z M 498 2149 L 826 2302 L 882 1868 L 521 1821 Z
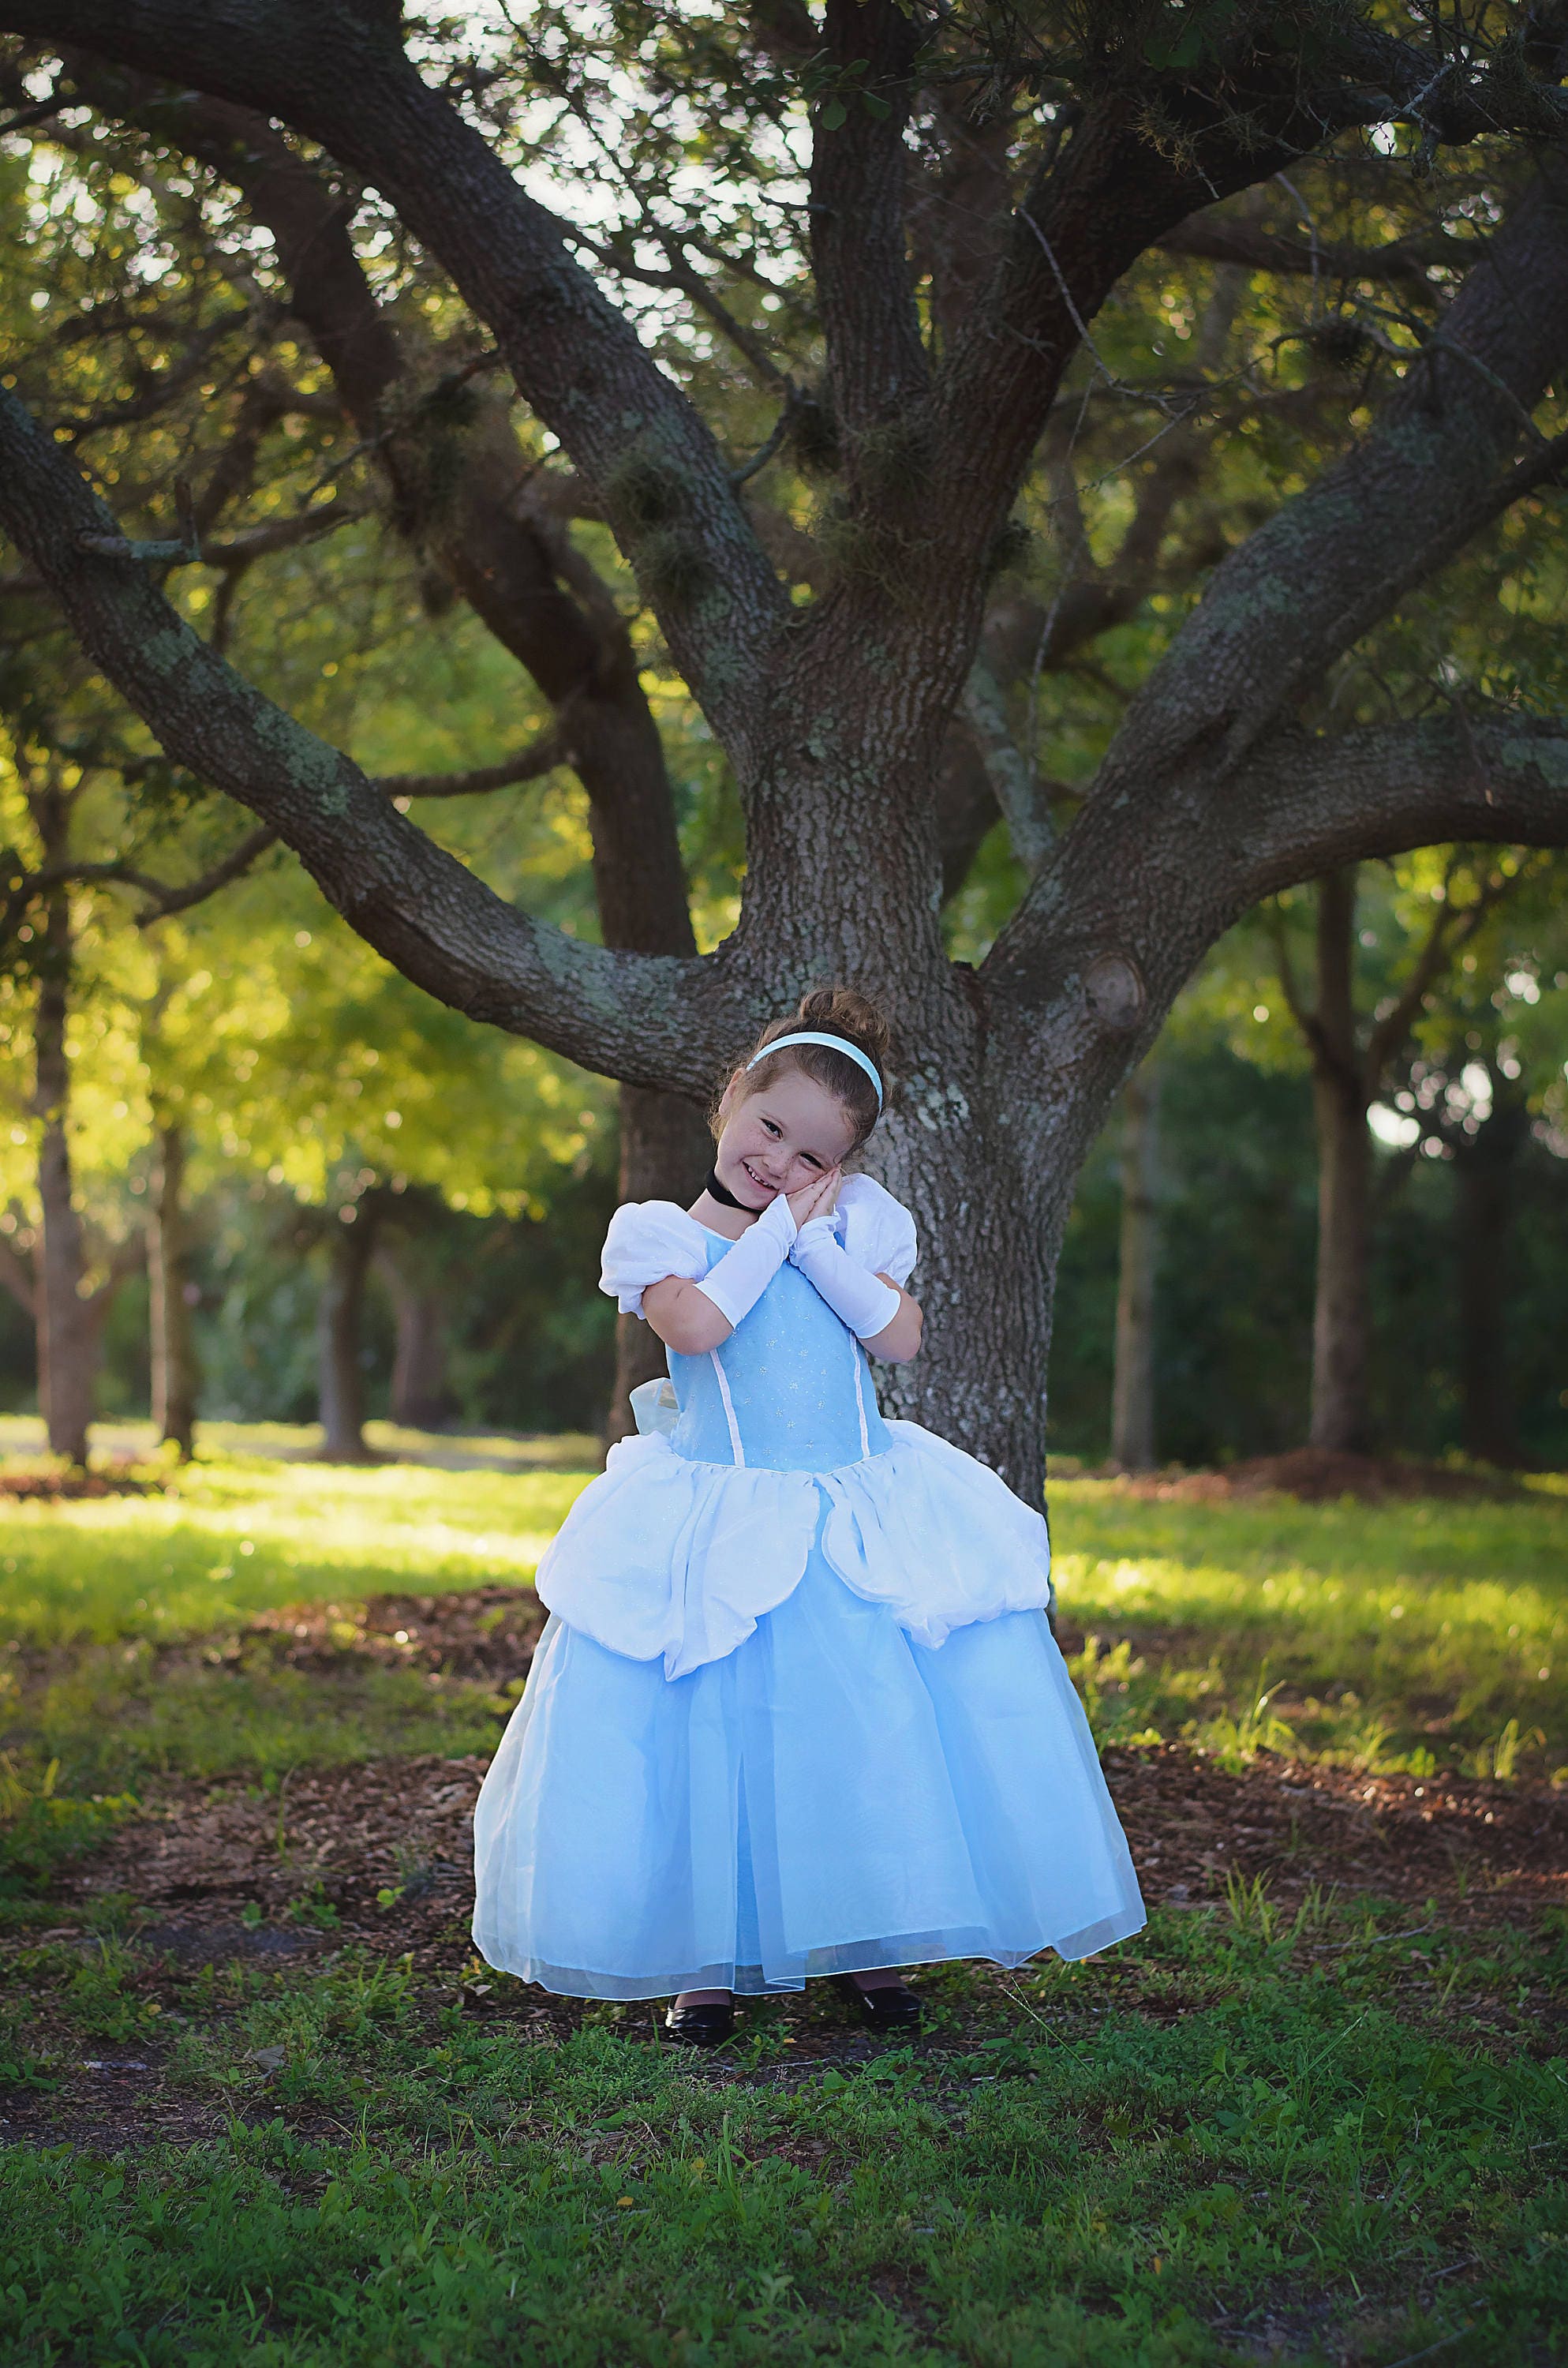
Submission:
M 708 1234 L 708 1269 L 730 1248 Z M 692 1463 L 827 1473 L 891 1447 L 867 1352 L 789 1260 L 722 1347 L 670 1350 L 670 1447 Z

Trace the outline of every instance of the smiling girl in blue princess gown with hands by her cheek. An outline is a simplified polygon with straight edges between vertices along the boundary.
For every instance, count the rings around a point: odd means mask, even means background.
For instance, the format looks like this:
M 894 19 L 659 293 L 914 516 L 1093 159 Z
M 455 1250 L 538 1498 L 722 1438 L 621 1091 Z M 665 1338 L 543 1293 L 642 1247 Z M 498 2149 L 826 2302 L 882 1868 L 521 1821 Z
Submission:
M 846 1160 L 888 1030 L 803 997 L 730 1077 L 689 1210 L 616 1210 L 602 1286 L 670 1350 L 640 1437 L 540 1563 L 528 1691 L 474 1814 L 474 1939 L 580 1999 L 836 1975 L 914 2025 L 900 1965 L 1090 1956 L 1144 1920 L 1052 1639 L 1040 1513 L 876 1411 L 917 1354 L 910 1212 Z M 658 1399 L 666 1399 L 666 1407 Z

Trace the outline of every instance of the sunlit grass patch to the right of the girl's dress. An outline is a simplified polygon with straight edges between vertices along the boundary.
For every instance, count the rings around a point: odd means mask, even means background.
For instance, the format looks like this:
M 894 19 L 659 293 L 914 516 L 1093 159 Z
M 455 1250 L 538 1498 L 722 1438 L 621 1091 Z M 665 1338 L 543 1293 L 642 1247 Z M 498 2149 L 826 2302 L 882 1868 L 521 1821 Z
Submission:
M 1101 1740 L 1469 1774 L 1568 1759 L 1568 1497 L 1184 1504 L 1052 1485 Z

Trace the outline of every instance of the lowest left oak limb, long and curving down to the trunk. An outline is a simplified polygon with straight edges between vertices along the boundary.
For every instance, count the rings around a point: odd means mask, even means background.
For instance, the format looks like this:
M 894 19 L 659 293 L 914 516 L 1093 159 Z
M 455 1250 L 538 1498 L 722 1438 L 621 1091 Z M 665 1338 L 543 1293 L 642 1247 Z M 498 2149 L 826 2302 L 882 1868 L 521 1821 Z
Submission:
M 249 805 L 322 895 L 415 985 L 585 1068 L 699 1099 L 748 1014 L 720 961 L 616 954 L 507 905 L 436 848 L 339 748 L 244 682 L 142 568 L 81 533 L 114 519 L 0 388 L 0 521 L 175 762 Z

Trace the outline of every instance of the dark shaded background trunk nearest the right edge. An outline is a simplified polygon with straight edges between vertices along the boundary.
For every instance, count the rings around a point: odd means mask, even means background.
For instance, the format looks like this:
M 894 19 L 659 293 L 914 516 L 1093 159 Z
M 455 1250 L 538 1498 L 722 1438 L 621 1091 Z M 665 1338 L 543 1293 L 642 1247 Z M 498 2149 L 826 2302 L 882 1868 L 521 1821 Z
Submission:
M 1509 1236 L 1523 1101 L 1495 1101 L 1480 1132 L 1454 1153 L 1454 1265 L 1459 1269 L 1459 1397 L 1464 1452 L 1518 1463 L 1509 1390 Z

